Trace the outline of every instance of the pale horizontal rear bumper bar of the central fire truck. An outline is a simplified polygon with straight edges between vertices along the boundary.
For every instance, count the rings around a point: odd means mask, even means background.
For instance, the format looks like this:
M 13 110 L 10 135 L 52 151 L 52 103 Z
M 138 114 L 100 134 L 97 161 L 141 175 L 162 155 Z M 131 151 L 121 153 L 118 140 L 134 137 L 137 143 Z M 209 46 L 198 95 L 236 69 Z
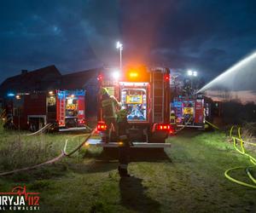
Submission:
M 89 139 L 87 142 L 88 146 L 96 146 L 96 147 L 121 147 L 122 143 L 120 142 L 110 142 L 105 143 L 102 142 L 101 139 Z M 133 142 L 134 148 L 169 148 L 171 147 L 171 143 L 147 143 L 147 142 Z

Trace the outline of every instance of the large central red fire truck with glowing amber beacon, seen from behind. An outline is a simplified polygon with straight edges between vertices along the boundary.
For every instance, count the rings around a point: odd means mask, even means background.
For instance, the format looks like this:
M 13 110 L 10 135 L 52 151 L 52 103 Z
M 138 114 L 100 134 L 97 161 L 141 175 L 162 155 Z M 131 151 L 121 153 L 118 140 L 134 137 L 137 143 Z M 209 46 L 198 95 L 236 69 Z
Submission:
M 98 76 L 99 89 L 107 88 L 125 109 L 129 135 L 134 147 L 170 147 L 165 143 L 172 132 L 170 115 L 170 71 L 168 68 L 145 66 L 126 67 L 122 72 L 109 69 Z M 102 147 L 116 147 L 115 139 L 105 142 L 107 125 L 102 115 L 101 95 L 98 95 L 97 130 L 102 135 Z

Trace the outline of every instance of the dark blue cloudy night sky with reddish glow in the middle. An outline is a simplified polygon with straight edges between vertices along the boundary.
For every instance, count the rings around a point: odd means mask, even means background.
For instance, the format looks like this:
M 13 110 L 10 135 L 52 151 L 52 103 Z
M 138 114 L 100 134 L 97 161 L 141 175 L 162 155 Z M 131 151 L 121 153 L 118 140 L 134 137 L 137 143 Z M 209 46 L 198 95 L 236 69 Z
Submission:
M 256 1 L 2 0 L 0 83 L 21 69 L 125 64 L 191 68 L 207 80 L 256 49 Z

